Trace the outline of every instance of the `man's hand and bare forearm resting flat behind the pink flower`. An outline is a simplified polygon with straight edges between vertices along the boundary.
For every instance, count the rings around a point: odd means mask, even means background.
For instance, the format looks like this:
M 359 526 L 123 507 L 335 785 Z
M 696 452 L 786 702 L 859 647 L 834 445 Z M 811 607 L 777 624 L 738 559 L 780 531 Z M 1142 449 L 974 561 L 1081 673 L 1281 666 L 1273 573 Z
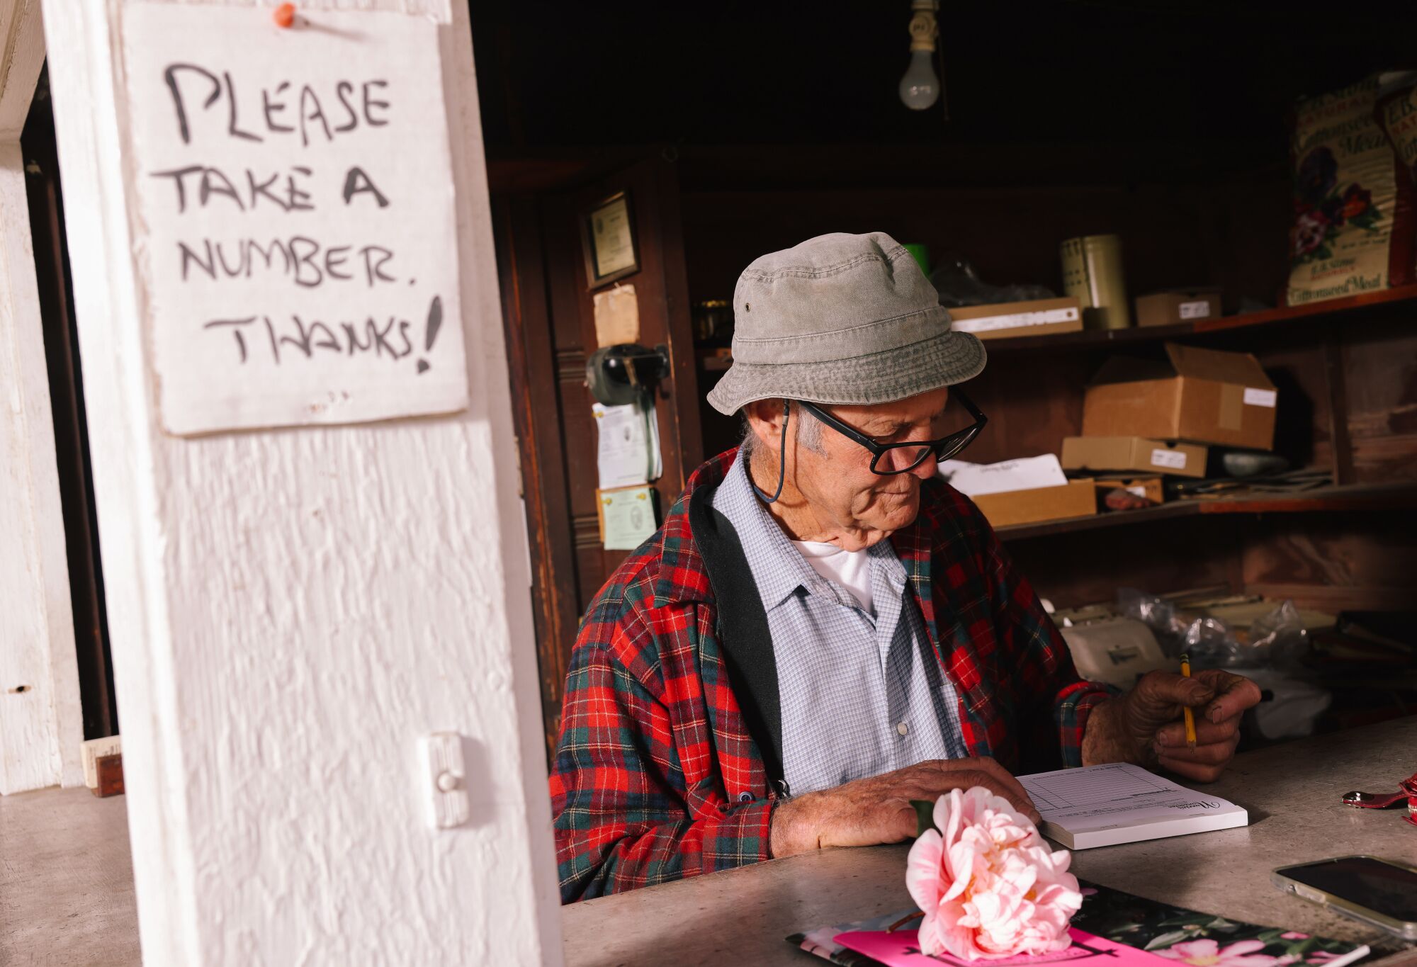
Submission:
M 1023 786 L 993 759 L 935 759 L 788 800 L 772 811 L 769 849 L 781 858 L 823 846 L 901 842 L 915 835 L 911 800 L 934 803 L 971 786 L 983 786 L 1039 821 Z

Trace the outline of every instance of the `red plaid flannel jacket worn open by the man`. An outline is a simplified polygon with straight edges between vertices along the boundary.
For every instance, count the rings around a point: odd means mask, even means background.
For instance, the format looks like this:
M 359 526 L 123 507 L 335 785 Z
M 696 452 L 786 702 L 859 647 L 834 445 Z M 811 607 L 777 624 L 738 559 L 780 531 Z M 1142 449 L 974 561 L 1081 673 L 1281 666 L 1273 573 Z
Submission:
M 777 794 L 728 683 L 689 526 L 690 495 L 723 481 L 735 454 L 690 476 L 581 624 L 551 767 L 565 903 L 768 858 Z M 915 523 L 890 540 L 959 695 L 971 754 L 1015 771 L 1081 764 L 1088 712 L 1111 692 L 1078 679 L 975 505 L 927 481 Z

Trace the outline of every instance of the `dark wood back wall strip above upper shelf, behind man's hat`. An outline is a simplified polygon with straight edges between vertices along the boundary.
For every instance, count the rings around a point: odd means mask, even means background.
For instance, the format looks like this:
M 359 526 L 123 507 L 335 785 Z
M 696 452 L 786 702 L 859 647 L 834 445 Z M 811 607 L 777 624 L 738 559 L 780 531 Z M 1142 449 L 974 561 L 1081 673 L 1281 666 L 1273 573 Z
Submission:
M 1060 291 L 1058 242 L 1117 233 L 1134 295 L 1221 285 L 1233 311 L 1241 298 L 1274 303 L 1288 197 L 1282 172 L 1230 187 L 714 190 L 687 191 L 683 221 L 696 299 L 728 298 L 758 255 L 829 231 L 886 231 L 925 242 L 937 264 L 951 251 L 969 258 L 986 282 Z M 1224 225 L 1219 238 L 1216 224 Z

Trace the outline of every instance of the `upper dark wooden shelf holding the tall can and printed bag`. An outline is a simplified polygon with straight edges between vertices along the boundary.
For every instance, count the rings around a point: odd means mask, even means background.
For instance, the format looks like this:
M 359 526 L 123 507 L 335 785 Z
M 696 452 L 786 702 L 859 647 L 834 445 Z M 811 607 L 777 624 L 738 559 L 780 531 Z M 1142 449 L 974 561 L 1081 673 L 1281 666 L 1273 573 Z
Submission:
M 1206 336 L 1212 333 L 1230 332 L 1233 329 L 1250 329 L 1271 326 L 1281 322 L 1309 319 L 1316 316 L 1338 316 L 1376 305 L 1417 302 L 1417 285 L 1404 285 L 1396 289 L 1382 289 L 1379 292 L 1365 292 L 1342 299 L 1326 299 L 1323 302 L 1309 302 L 1301 306 L 1285 306 L 1281 309 L 1264 309 L 1263 312 L 1246 312 L 1237 316 L 1223 316 L 1220 319 L 1200 319 L 1197 322 L 1180 322 L 1173 326 L 1148 326 L 1138 329 L 1085 329 L 1083 332 L 1061 332 L 1047 336 L 1012 336 L 1005 339 L 988 339 L 985 346 L 989 354 L 1033 352 L 1033 350 L 1090 350 L 1124 347 L 1132 345 L 1155 343 L 1165 339 L 1185 339 L 1187 336 Z

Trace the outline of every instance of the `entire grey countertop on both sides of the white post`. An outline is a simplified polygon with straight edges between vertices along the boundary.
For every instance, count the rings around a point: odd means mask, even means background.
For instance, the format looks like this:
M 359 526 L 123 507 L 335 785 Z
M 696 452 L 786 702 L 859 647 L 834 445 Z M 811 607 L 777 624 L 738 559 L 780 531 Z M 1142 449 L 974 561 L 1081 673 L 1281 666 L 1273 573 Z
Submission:
M 1417 862 L 1417 829 L 1400 810 L 1338 801 L 1352 788 L 1396 787 L 1414 770 L 1417 717 L 1246 753 L 1207 790 L 1248 808 L 1248 827 L 1087 849 L 1073 868 L 1158 900 L 1393 951 L 1384 934 L 1280 893 L 1270 871 L 1350 852 Z M 0 964 L 140 963 L 123 797 L 0 797 Z M 905 846 L 829 849 L 563 907 L 565 963 L 811 967 L 825 961 L 794 950 L 786 934 L 910 906 Z M 1386 967 L 1399 963 L 1408 960 Z

